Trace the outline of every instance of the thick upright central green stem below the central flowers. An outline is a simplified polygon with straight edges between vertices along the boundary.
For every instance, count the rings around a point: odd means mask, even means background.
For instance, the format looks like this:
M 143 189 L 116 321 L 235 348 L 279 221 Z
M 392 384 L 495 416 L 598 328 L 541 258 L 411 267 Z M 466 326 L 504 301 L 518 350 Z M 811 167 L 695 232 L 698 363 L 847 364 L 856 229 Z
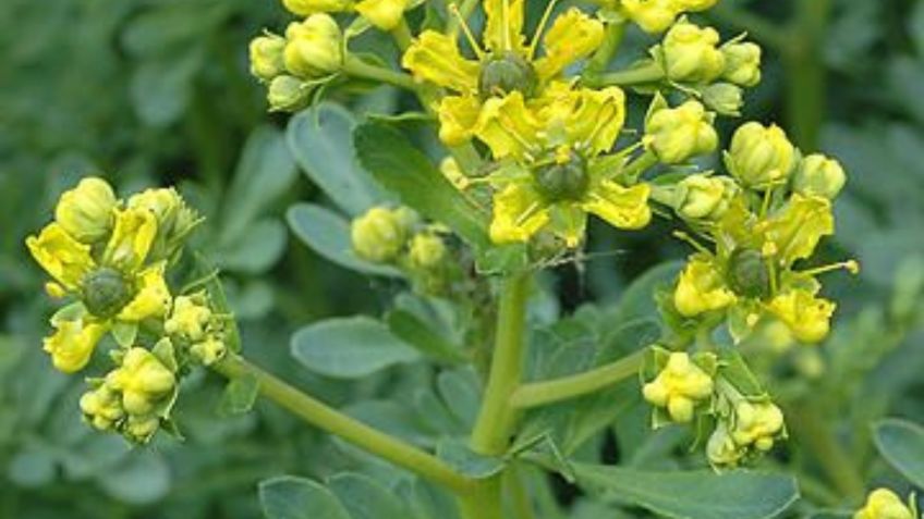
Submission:
M 484 403 L 472 431 L 472 449 L 486 456 L 501 456 L 507 452 L 515 421 L 510 397 L 522 379 L 530 281 L 528 273 L 513 274 L 504 281 L 500 295 L 490 372 Z

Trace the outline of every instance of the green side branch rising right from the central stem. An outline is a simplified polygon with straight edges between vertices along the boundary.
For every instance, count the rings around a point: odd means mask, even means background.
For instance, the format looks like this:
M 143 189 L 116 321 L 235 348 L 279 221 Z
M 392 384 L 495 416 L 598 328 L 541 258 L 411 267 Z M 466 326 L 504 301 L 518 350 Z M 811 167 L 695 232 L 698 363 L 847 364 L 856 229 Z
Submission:
M 510 405 L 516 409 L 530 409 L 588 395 L 637 374 L 644 358 L 644 350 L 636 351 L 584 373 L 523 384 L 511 396 Z

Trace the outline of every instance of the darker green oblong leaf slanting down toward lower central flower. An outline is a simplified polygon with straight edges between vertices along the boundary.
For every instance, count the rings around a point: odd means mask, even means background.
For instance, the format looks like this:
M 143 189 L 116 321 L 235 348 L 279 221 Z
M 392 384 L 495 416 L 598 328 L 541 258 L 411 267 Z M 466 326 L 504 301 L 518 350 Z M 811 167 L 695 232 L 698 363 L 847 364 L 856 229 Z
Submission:
M 398 129 L 369 122 L 355 131 L 360 162 L 402 203 L 451 227 L 478 249 L 491 246 L 487 214 L 462 195 Z

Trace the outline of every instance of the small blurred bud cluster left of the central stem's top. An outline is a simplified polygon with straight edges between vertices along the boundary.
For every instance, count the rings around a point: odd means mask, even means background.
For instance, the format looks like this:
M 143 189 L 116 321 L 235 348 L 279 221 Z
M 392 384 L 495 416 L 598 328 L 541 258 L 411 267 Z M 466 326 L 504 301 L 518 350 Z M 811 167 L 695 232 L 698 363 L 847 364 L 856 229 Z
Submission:
M 356 256 L 400 268 L 425 293 L 441 292 L 452 265 L 441 235 L 406 207 L 374 207 L 353 220 L 350 232 Z

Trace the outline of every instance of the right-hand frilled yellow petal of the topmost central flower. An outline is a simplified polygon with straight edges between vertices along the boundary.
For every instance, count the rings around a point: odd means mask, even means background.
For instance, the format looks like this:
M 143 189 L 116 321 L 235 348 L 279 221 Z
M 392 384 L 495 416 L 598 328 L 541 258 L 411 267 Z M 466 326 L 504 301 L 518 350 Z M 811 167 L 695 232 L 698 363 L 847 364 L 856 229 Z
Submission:
M 568 65 L 588 57 L 603 42 L 604 24 L 576 8 L 558 16 L 543 40 L 545 55 L 536 60 L 543 79 L 560 74 Z

